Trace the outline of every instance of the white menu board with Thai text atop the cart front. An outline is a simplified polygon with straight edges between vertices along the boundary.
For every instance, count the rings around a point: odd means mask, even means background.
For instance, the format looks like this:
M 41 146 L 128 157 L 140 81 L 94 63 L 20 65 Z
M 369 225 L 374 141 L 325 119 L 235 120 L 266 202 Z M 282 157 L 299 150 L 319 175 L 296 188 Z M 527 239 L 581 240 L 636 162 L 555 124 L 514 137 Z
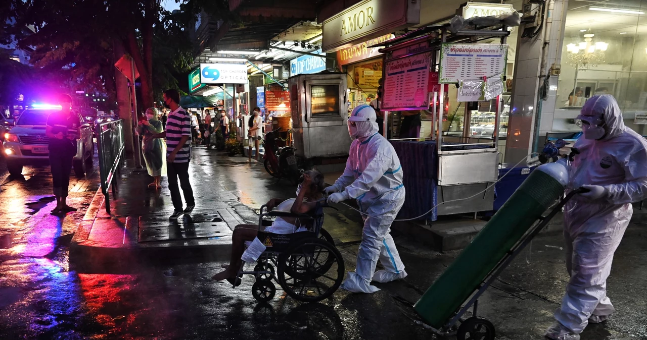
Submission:
M 441 47 L 441 83 L 459 83 L 465 80 L 483 80 L 496 74 L 505 74 L 508 45 L 505 44 L 449 44 Z

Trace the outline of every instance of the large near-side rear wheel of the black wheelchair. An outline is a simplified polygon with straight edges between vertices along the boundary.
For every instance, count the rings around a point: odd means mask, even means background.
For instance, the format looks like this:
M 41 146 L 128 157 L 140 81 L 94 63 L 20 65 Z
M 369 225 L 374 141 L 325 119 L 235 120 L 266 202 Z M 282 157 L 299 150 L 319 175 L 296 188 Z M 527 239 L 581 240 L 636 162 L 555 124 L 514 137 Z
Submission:
M 279 257 L 279 284 L 298 301 L 322 301 L 333 295 L 343 280 L 342 254 L 322 239 L 304 239 Z

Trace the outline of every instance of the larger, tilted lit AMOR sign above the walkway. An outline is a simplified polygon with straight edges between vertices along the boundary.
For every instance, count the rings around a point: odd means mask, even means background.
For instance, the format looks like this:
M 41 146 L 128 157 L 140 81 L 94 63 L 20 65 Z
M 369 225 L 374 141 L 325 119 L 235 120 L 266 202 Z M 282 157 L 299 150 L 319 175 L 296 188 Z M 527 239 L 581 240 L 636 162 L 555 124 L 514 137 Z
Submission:
M 419 0 L 364 0 L 323 21 L 322 50 L 338 50 L 419 21 Z

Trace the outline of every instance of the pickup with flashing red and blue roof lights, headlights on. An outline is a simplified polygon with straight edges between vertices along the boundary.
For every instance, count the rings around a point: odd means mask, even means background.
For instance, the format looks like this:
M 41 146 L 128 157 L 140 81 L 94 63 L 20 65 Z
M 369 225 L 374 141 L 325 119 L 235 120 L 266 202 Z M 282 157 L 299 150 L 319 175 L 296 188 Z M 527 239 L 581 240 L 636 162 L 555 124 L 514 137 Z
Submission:
M 12 175 L 23 172 L 25 165 L 49 165 L 49 138 L 45 136 L 47 117 L 60 111 L 60 106 L 34 105 L 23 111 L 16 119 L 16 125 L 5 133 L 5 159 L 7 170 Z M 74 173 L 81 177 L 85 175 L 86 166 L 92 165 L 94 155 L 94 142 L 92 128 L 83 117 L 76 114 L 81 122 L 81 139 L 76 141 L 76 155 L 74 155 Z

